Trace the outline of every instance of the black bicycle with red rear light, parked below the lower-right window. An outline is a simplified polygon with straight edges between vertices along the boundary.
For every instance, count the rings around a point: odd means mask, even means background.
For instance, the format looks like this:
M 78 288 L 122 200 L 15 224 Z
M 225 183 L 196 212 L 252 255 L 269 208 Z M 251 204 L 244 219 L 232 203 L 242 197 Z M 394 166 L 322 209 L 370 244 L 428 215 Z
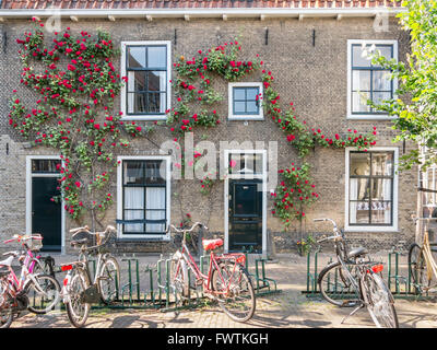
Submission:
M 347 252 L 344 232 L 338 229 L 333 220 L 315 219 L 315 221 L 329 221 L 333 225 L 333 235 L 318 240 L 317 243 L 333 241 L 336 256 L 336 261 L 329 264 L 320 272 L 317 280 L 319 290 L 328 302 L 336 306 L 356 306 L 341 323 L 366 307 L 378 328 L 398 328 L 393 295 L 380 277 L 383 266 L 370 261 L 364 247 Z M 339 299 L 331 298 L 331 294 L 339 290 L 346 292 L 340 293 Z M 354 295 L 352 300 L 351 293 Z

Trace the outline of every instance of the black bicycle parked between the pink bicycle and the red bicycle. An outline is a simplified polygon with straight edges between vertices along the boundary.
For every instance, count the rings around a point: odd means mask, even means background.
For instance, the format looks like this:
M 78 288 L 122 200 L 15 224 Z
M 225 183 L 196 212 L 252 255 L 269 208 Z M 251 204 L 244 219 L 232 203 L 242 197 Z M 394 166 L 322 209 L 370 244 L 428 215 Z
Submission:
M 70 230 L 73 233 L 72 246 L 79 247 L 79 261 L 64 264 L 63 303 L 67 315 L 74 327 L 83 327 L 88 317 L 91 304 L 113 303 L 118 298 L 120 268 L 117 259 L 105 252 L 105 246 L 115 228 L 108 225 L 104 232 L 91 232 L 88 226 Z M 82 237 L 81 237 L 82 235 Z M 92 277 L 88 256 L 97 255 L 95 275 Z

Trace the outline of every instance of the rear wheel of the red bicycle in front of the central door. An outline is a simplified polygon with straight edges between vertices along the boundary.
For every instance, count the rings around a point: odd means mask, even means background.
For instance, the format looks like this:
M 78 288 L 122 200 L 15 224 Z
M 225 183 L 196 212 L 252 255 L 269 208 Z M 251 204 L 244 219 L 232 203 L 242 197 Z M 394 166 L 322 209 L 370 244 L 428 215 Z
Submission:
M 246 269 L 231 260 L 222 261 L 220 270 L 211 276 L 212 289 L 218 298 L 220 307 L 236 322 L 247 322 L 255 313 L 256 296 Z

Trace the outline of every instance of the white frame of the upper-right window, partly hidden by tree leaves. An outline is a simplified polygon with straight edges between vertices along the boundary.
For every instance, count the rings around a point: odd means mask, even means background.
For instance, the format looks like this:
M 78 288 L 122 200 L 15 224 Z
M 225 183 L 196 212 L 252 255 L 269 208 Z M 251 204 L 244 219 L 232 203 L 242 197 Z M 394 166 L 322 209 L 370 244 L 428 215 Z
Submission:
M 352 112 L 352 75 L 354 69 L 352 67 L 352 48 L 354 45 L 387 45 L 392 47 L 393 57 L 398 61 L 398 40 L 381 40 L 381 39 L 349 39 L 347 40 L 347 119 L 362 119 L 362 120 L 391 120 L 395 119 L 397 116 L 389 116 L 387 113 L 380 112 Z M 364 68 L 363 68 L 364 70 Z M 383 70 L 383 69 L 371 69 L 368 70 L 376 71 L 376 70 Z M 395 91 L 398 90 L 398 79 L 393 79 L 390 81 L 392 88 L 392 98 L 397 98 Z M 370 91 L 371 91 L 371 80 L 370 80 Z

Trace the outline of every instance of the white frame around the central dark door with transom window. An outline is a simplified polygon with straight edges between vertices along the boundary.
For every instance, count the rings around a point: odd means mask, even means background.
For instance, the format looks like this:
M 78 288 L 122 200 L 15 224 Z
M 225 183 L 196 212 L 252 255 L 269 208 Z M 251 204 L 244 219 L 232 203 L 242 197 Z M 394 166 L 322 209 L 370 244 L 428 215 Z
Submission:
M 227 160 L 231 153 L 250 153 L 262 154 L 262 174 L 261 175 L 245 175 L 245 174 L 228 174 L 229 164 Z M 225 242 L 224 250 L 229 250 L 229 179 L 261 179 L 262 180 L 262 257 L 267 257 L 267 150 L 224 150 L 224 201 L 225 201 Z

